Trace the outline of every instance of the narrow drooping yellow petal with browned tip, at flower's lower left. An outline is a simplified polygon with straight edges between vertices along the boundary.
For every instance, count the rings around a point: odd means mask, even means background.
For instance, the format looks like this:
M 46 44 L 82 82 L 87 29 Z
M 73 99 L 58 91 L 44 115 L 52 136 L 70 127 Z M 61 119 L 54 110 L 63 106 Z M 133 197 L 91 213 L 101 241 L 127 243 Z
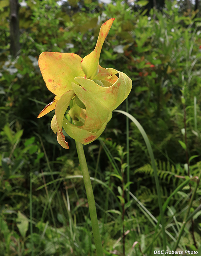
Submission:
M 71 101 L 71 99 L 74 96 L 74 91 L 73 90 L 69 90 L 67 91 L 56 103 L 55 106 L 55 116 L 56 116 L 56 120 L 57 120 L 57 140 L 59 142 L 59 144 L 64 147 L 63 145 L 65 145 L 65 148 L 69 148 L 68 147 L 68 143 L 65 141 L 65 136 L 63 135 L 62 132 L 62 123 L 63 123 L 63 118 L 64 118 L 64 114 L 68 108 L 68 105 Z M 53 127 L 53 131 L 55 132 L 56 128 L 55 128 L 55 123 L 52 124 Z

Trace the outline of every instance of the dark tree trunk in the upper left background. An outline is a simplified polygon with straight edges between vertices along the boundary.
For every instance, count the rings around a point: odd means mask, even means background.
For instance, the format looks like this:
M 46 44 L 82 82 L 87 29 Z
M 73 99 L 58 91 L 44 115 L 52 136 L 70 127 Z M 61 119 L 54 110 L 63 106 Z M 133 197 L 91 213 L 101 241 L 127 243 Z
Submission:
M 18 0 L 10 0 L 10 39 L 11 39 L 11 55 L 16 57 L 19 54 L 19 3 Z

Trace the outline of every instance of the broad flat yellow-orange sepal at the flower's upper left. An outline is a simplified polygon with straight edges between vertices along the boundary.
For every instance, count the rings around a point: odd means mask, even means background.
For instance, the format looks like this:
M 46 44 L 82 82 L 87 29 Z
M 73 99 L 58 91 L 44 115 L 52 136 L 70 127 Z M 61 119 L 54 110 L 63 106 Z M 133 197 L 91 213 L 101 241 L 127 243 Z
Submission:
M 38 65 L 48 90 L 59 97 L 72 90 L 71 82 L 74 77 L 85 76 L 81 60 L 82 58 L 74 53 L 41 53 Z

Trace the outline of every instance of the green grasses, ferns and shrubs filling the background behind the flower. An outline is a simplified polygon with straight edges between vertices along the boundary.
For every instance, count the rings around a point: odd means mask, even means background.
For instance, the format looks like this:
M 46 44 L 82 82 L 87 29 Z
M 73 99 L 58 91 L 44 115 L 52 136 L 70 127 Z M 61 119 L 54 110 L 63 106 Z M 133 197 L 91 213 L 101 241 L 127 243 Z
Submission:
M 54 97 L 37 60 L 43 51 L 86 56 L 95 47 L 100 26 L 111 17 L 115 21 L 100 65 L 122 71 L 133 81 L 128 112 L 151 141 L 163 203 L 201 170 L 201 19 L 195 6 L 190 1 L 59 3 L 20 2 L 20 51 L 12 57 L 9 1 L 0 1 L 0 256 L 95 255 L 75 142 L 66 138 L 69 150 L 57 143 L 50 129 L 52 112 L 37 119 Z M 125 102 L 119 110 L 126 110 Z M 153 239 L 159 217 L 153 169 L 137 127 L 129 124 L 133 183 L 130 194 L 126 191 L 123 222 L 117 172 L 124 170 L 126 183 L 126 117 L 114 112 L 100 140 L 84 146 L 84 151 L 95 178 L 105 255 L 123 255 L 123 224 L 126 255 L 162 250 L 161 227 Z M 192 218 L 187 219 L 177 250 L 201 246 L 201 188 L 196 190 L 196 184 L 191 179 L 169 201 L 168 250 L 173 250 L 194 192 Z

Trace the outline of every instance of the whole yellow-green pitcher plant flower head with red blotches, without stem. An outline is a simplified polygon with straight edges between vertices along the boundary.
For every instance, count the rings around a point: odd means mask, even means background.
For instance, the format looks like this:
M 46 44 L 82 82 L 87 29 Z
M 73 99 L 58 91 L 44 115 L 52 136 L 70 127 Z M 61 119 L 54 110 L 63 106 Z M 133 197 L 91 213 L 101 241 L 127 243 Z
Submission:
M 99 66 L 99 58 L 105 38 L 114 18 L 100 29 L 93 52 L 81 58 L 74 53 L 43 52 L 38 65 L 48 90 L 55 98 L 38 115 L 38 118 L 55 109 L 51 129 L 57 140 L 69 148 L 62 132 L 82 144 L 89 144 L 104 131 L 116 109 L 128 96 L 132 88 L 131 79 L 113 68 Z M 72 118 L 68 122 L 65 113 Z

